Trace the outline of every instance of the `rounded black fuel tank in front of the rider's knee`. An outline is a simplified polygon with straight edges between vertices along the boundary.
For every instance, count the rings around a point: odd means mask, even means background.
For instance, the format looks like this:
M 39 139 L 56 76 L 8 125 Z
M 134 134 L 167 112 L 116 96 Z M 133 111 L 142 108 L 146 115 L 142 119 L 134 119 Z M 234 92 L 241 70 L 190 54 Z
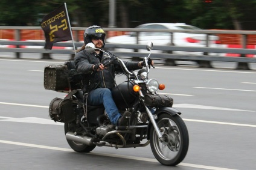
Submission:
M 138 96 L 138 94 L 133 91 L 133 85 L 132 82 L 126 81 L 112 89 L 112 96 L 118 109 L 123 110 L 127 108 L 127 105 L 129 107 L 133 105 L 136 96 Z

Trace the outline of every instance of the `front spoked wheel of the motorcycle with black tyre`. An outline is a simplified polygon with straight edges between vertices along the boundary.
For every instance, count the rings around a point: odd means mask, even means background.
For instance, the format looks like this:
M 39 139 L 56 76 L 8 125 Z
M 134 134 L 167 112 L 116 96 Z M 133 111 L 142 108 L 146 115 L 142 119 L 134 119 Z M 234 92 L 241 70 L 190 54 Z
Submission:
M 175 166 L 182 162 L 188 151 L 187 127 L 179 115 L 161 114 L 156 123 L 162 134 L 162 141 L 158 138 L 152 126 L 150 129 L 152 152 L 163 165 Z

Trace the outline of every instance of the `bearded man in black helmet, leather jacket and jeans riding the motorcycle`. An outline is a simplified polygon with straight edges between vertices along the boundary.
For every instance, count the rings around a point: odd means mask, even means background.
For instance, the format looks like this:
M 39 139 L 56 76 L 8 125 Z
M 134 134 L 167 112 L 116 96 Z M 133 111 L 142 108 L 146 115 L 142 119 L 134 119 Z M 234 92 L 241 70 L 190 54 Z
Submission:
M 112 98 L 111 89 L 115 87 L 115 73 L 123 73 L 122 68 L 117 60 L 107 67 L 102 64 L 108 55 L 101 50 L 88 53 L 85 46 L 88 43 L 94 43 L 95 47 L 102 49 L 104 47 L 104 38 L 106 34 L 104 30 L 97 25 L 89 26 L 84 34 L 84 45 L 77 52 L 74 58 L 75 68 L 77 71 L 85 74 L 85 93 L 88 93 L 86 102 L 88 105 L 97 106 L 104 105 L 107 115 L 112 124 L 115 126 L 126 126 L 128 112 L 124 112 L 123 116 L 117 109 Z M 112 53 L 106 51 L 110 56 Z M 148 64 L 153 65 L 153 61 L 149 59 Z M 128 70 L 138 70 L 146 65 L 145 61 L 131 62 L 124 61 Z

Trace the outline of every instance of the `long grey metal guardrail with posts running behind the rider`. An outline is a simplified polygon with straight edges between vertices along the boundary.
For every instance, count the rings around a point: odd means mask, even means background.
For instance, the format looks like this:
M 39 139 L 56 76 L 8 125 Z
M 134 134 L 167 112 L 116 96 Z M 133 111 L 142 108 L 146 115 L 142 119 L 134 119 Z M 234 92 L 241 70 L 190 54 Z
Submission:
M 20 41 L 21 30 L 22 29 L 41 29 L 39 26 L 0 26 L 0 29 L 14 29 L 15 30 L 15 40 L 14 41 L 0 41 L 0 45 L 14 45 L 17 48 L 0 48 L 0 52 L 15 52 L 16 57 L 19 58 L 19 53 L 42 53 L 43 59 L 50 59 L 50 53 L 63 53 L 71 54 L 71 58 L 74 57 L 74 50 L 67 49 L 52 49 L 46 50 L 42 48 L 19 48 L 19 46 L 44 46 L 43 41 Z M 243 49 L 231 49 L 231 48 L 214 48 L 208 47 L 208 43 L 205 44 L 205 47 L 184 47 L 184 46 L 154 46 L 154 50 L 164 50 L 168 53 L 152 53 L 152 58 L 161 58 L 165 59 L 167 65 L 175 65 L 176 60 L 187 60 L 187 61 L 197 61 L 200 67 L 211 67 L 211 61 L 225 61 L 225 62 L 237 62 L 237 69 L 240 70 L 249 70 L 248 63 L 255 63 L 256 58 L 245 57 L 246 54 L 255 54 L 255 49 L 246 49 L 246 38 L 248 35 L 256 35 L 256 31 L 219 31 L 219 30 L 167 30 L 167 29 L 135 29 L 135 28 L 103 28 L 105 31 L 128 31 L 128 32 L 137 32 L 137 41 L 139 32 L 170 32 L 171 35 L 173 32 L 185 32 L 185 33 L 196 33 L 196 34 L 205 34 L 206 40 L 208 36 L 212 34 L 240 34 L 242 35 L 242 47 Z M 75 47 L 81 47 L 83 43 L 79 42 L 78 31 L 84 31 L 85 28 L 73 27 L 72 31 L 74 34 Z M 170 43 L 173 42 L 173 36 L 170 36 Z M 73 44 L 70 42 L 59 42 L 54 43 L 54 46 L 62 47 L 72 47 Z M 110 44 L 106 43 L 105 45 L 108 49 L 146 49 L 145 45 L 139 44 Z M 173 51 L 188 51 L 188 52 L 202 52 L 203 55 L 180 55 L 172 53 Z M 147 55 L 147 53 L 141 52 L 114 52 L 116 56 L 128 56 L 133 59 L 141 58 Z M 227 56 L 218 56 L 218 55 L 208 55 L 208 53 L 239 53 L 241 57 L 227 57 Z

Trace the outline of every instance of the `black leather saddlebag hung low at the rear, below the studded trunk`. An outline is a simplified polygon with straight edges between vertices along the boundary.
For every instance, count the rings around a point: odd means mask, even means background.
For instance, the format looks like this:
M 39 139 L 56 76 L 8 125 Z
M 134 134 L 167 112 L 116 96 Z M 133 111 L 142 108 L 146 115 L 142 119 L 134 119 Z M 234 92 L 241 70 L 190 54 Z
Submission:
M 70 123 L 75 120 L 75 112 L 71 100 L 71 96 L 77 91 L 71 91 L 64 99 L 58 97 L 51 100 L 49 106 L 49 117 L 55 122 Z

